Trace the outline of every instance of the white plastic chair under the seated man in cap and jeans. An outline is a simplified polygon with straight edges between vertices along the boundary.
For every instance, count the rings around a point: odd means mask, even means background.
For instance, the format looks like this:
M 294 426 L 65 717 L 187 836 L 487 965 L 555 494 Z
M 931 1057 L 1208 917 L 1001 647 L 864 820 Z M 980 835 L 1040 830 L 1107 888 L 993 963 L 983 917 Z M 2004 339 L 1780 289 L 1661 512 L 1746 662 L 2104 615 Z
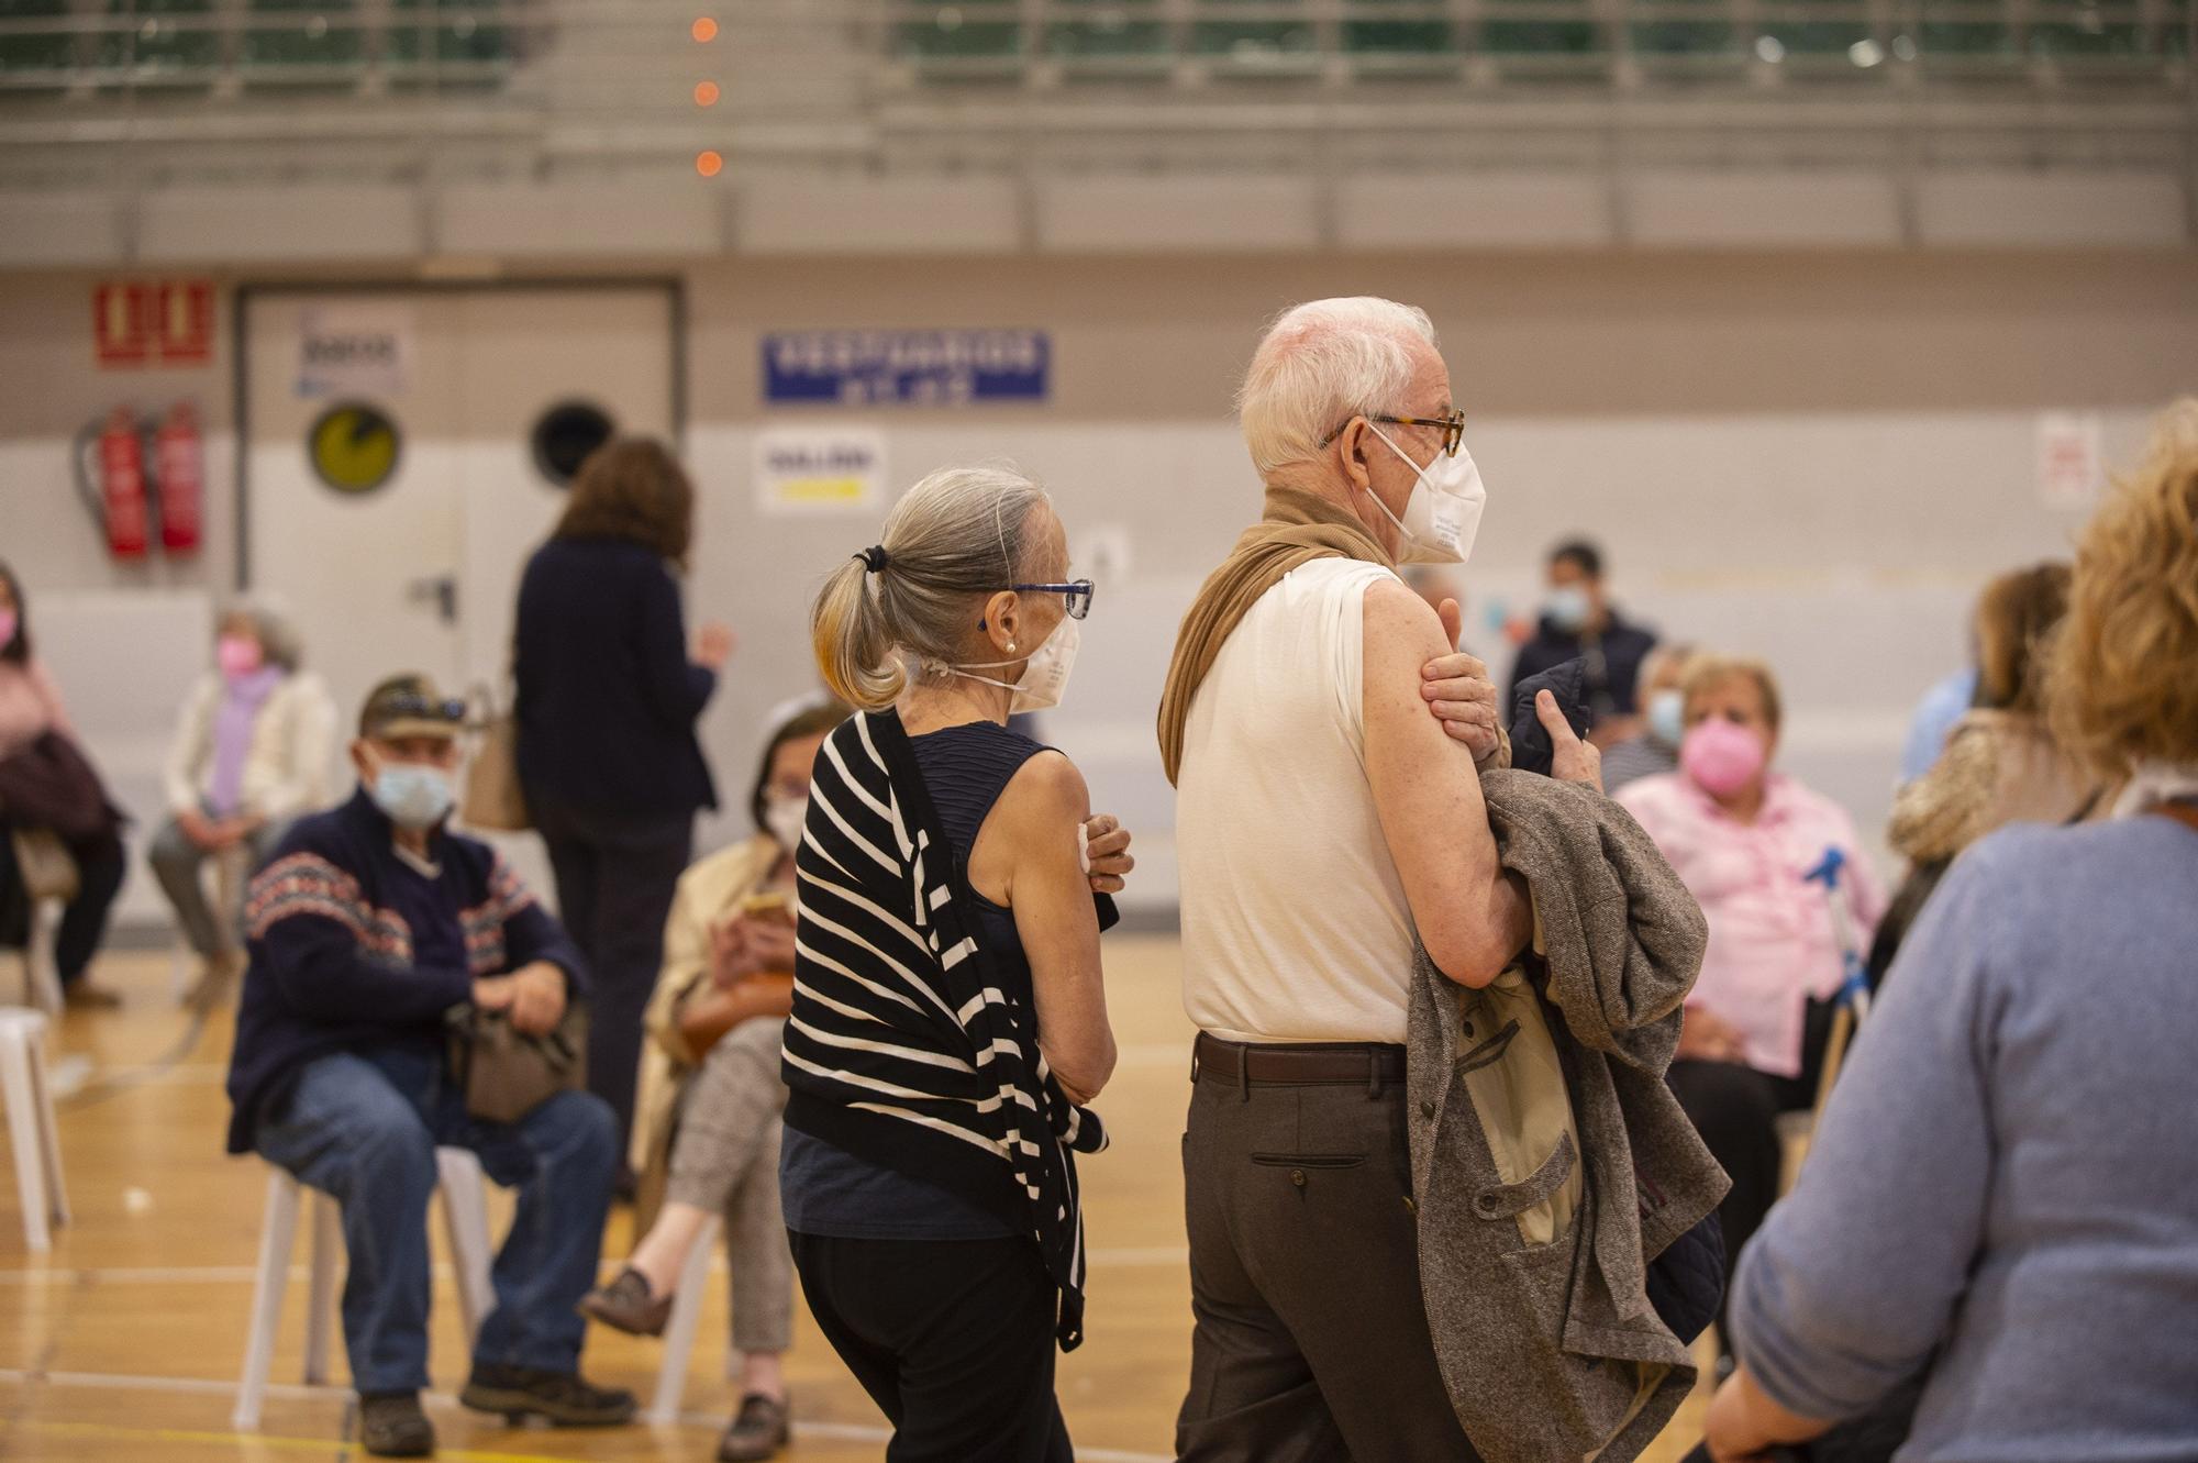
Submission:
M 488 1283 L 488 1197 L 481 1160 L 466 1149 L 435 1149 L 442 1219 L 451 1239 L 451 1261 L 457 1267 L 457 1309 L 466 1327 L 466 1351 L 481 1331 L 481 1318 L 495 1305 Z M 253 1331 L 244 1342 L 244 1377 L 237 1382 L 237 1410 L 231 1421 L 240 1432 L 259 1426 L 268 1373 L 275 1366 L 275 1331 L 281 1327 L 281 1298 L 290 1281 L 290 1248 L 297 1241 L 301 1184 L 281 1169 L 268 1171 L 268 1206 L 259 1228 L 259 1278 L 253 1281 Z M 336 1320 L 336 1250 L 343 1226 L 336 1202 L 312 1195 L 312 1267 L 306 1300 L 306 1384 L 328 1382 L 328 1344 Z

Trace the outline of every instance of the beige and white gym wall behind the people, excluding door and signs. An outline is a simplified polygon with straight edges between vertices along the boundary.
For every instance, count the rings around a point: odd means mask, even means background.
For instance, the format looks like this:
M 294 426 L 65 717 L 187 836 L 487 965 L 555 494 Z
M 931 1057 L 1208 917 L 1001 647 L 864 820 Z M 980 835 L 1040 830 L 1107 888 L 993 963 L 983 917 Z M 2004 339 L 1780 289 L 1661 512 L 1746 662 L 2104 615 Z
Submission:
M 2198 389 L 2194 255 L 1306 255 L 1207 259 L 728 261 L 688 272 L 688 453 L 703 492 L 690 587 L 741 657 L 703 734 L 741 830 L 758 718 L 813 685 L 807 602 L 877 536 L 877 516 L 763 518 L 750 453 L 758 340 L 800 327 L 1044 327 L 1042 406 L 879 411 L 910 483 L 1011 455 L 1073 529 L 1119 525 L 1130 576 L 1103 589 L 1053 734 L 1095 795 L 1136 822 L 1147 901 L 1172 901 L 1169 797 L 1152 712 L 1174 619 L 1255 512 L 1229 393 L 1281 305 L 1378 290 L 1444 334 L 1490 488 L 1468 571 L 1473 637 L 1490 602 L 1525 608 L 1550 540 L 1591 532 L 1613 587 L 1666 630 L 1761 652 L 1789 685 L 1789 767 L 1875 828 L 1908 705 L 1961 655 L 1974 589 L 2066 551 L 2075 516 L 2035 494 L 2033 420 L 2103 413 L 2110 457 Z M 209 470 L 211 551 L 185 571 L 114 571 L 59 472 L 66 437 L 116 395 L 196 393 L 229 411 L 226 351 L 202 373 L 90 367 L 90 279 L 0 277 L 0 556 L 31 593 L 220 587 L 233 518 Z M 224 312 L 226 319 L 226 312 Z M 842 420 L 840 413 L 829 413 Z M 1501 659 L 1490 655 L 1490 659 Z M 75 674 L 75 672 L 73 672 Z

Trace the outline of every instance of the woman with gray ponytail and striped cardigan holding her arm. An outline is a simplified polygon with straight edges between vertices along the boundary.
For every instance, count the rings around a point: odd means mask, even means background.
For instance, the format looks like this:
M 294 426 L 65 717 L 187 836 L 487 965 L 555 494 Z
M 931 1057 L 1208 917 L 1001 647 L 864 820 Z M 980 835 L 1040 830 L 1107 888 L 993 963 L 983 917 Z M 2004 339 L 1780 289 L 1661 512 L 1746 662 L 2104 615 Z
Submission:
M 910 1463 L 1073 1456 L 1053 1344 L 1084 1338 L 1075 1153 L 1106 1144 L 1130 835 L 1007 718 L 1059 701 L 1090 604 L 1037 483 L 947 468 L 811 619 L 859 714 L 796 852 L 780 1193 L 809 1309 Z

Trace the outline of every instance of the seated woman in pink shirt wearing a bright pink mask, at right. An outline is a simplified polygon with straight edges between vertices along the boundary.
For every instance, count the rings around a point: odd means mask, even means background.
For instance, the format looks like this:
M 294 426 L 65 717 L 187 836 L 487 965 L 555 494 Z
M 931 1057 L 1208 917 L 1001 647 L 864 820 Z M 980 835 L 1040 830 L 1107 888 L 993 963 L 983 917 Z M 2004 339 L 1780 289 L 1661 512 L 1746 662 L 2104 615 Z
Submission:
M 1719 1208 L 1736 1261 L 1778 1197 L 1778 1114 L 1816 1101 L 1829 997 L 1844 973 L 1831 905 L 1805 874 L 1824 850 L 1866 949 L 1886 896 L 1846 811 L 1769 769 L 1778 681 L 1761 661 L 1699 657 L 1686 677 L 1679 771 L 1618 793 L 1710 918 L 1670 1087 L 1732 1175 Z M 1719 1327 L 1723 1336 L 1723 1327 Z

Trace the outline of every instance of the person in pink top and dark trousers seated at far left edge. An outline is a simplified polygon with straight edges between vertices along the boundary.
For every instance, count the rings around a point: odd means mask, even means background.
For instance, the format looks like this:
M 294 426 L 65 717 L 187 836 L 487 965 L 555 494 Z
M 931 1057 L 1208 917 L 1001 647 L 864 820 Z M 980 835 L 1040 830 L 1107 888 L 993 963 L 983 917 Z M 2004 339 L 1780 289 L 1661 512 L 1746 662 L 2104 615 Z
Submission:
M 0 762 L 29 753 L 48 732 L 75 738 L 62 688 L 31 652 L 31 615 L 15 573 L 0 565 Z M 22 942 L 31 925 L 29 896 L 15 868 L 15 828 L 0 806 L 0 940 Z M 123 846 L 114 830 L 66 839 L 77 863 L 77 896 L 62 914 L 53 958 L 70 1006 L 116 1006 L 112 991 L 84 980 L 108 931 L 108 909 L 123 887 Z

